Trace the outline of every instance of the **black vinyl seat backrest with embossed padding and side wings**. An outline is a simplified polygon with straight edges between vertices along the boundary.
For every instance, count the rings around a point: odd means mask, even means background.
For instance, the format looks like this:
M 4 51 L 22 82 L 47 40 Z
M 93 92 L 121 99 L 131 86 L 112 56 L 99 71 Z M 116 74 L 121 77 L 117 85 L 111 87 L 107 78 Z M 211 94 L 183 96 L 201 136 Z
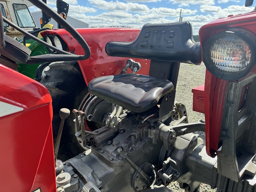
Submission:
M 201 63 L 200 43 L 193 39 L 188 21 L 146 24 L 133 42 L 109 42 L 105 48 L 110 56 L 151 60 Z

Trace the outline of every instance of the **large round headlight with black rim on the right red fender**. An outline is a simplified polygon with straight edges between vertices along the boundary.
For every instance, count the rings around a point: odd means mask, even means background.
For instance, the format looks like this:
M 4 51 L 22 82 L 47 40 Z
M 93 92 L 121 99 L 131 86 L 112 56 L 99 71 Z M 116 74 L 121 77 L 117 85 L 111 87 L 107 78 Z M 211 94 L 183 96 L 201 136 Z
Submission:
M 218 78 L 240 79 L 255 64 L 255 42 L 255 35 L 243 29 L 216 34 L 204 45 L 204 64 Z

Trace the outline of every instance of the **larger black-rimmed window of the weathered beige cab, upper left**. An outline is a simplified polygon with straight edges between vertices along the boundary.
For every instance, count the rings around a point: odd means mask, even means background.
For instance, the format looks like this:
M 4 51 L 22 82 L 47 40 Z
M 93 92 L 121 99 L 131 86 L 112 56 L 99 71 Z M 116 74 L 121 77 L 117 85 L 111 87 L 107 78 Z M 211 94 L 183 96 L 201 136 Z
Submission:
M 13 4 L 19 27 L 36 27 L 28 7 L 25 4 Z

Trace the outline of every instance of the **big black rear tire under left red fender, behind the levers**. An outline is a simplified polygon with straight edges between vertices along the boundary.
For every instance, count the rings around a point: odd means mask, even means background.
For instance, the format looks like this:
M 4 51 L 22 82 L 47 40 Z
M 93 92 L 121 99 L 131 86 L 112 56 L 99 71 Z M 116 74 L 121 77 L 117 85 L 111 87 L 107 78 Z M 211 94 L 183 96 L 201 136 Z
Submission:
M 70 115 L 65 120 L 60 141 L 58 159 L 65 161 L 84 151 L 75 136 L 75 119 L 73 109 L 78 109 L 81 101 L 88 95 L 83 74 L 77 61 L 53 62 L 44 68 L 41 83 L 47 87 L 52 97 L 53 138 L 57 137 L 61 108 L 68 108 Z M 54 139 L 55 140 L 55 139 Z

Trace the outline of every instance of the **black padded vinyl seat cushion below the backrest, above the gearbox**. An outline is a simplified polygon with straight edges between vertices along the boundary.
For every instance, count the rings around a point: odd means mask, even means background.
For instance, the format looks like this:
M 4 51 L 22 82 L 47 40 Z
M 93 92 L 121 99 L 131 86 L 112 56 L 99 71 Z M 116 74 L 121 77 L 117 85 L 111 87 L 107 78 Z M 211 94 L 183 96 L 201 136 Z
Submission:
M 139 74 L 102 76 L 88 85 L 89 92 L 134 112 L 144 112 L 171 92 L 172 82 Z

